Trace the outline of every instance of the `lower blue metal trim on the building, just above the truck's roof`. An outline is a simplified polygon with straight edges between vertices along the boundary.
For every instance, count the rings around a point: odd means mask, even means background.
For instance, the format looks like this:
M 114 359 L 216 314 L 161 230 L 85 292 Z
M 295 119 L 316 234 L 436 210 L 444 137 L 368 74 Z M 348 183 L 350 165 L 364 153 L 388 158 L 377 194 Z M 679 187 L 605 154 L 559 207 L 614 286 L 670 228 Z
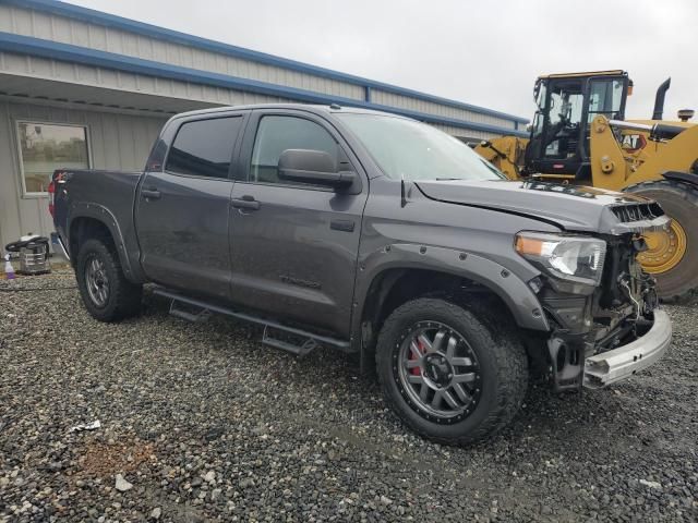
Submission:
M 366 109 L 401 114 L 424 122 L 441 123 L 443 125 L 453 125 L 455 127 L 469 129 L 473 131 L 484 131 L 496 134 L 524 135 L 524 133 L 517 132 L 516 130 L 510 127 L 500 127 L 485 123 L 468 122 L 465 120 L 437 117 L 434 114 L 411 111 L 408 109 L 372 104 L 365 100 L 325 95 L 322 93 L 314 93 L 296 87 L 286 87 L 281 85 L 269 84 L 266 82 L 260 82 L 256 80 L 240 78 L 226 74 L 181 68 L 179 65 L 170 65 L 167 63 L 143 60 L 141 58 L 115 54 L 96 49 L 86 49 L 84 47 L 72 46 L 70 44 L 43 40 L 39 38 L 15 35 L 12 33 L 0 32 L 0 51 L 15 52 L 19 54 L 33 54 L 53 60 L 93 65 L 97 68 L 115 69 L 148 76 L 157 76 L 181 82 L 192 82 L 195 84 L 205 84 L 267 96 L 276 96 L 309 104 L 339 104 L 347 107 L 362 107 Z

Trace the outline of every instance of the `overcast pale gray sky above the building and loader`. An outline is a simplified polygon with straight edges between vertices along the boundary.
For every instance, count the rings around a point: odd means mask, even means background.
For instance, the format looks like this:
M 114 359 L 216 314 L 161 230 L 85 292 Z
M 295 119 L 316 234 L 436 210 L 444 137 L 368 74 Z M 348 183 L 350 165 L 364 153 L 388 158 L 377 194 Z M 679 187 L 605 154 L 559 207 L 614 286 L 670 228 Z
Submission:
M 530 118 L 541 73 L 624 69 L 627 118 L 698 109 L 697 0 L 71 0 Z M 492 7 L 490 7 L 492 5 Z

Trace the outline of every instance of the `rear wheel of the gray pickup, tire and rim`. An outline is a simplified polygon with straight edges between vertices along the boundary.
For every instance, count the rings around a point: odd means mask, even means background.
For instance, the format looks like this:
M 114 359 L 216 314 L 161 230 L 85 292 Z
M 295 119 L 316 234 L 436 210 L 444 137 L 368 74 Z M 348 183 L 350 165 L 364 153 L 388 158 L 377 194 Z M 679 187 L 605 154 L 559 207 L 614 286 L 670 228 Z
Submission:
M 117 321 L 141 312 L 143 287 L 127 280 L 113 244 L 91 239 L 80 246 L 75 265 L 85 307 L 99 321 Z

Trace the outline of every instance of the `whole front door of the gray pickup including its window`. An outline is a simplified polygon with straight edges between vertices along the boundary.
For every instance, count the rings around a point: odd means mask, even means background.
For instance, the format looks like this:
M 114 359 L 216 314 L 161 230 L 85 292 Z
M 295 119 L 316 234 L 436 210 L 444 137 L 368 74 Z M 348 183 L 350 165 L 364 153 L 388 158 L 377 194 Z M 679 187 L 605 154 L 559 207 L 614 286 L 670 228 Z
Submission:
M 253 111 L 231 199 L 232 300 L 349 332 L 361 219 L 369 185 L 341 136 L 303 111 Z M 278 177 L 286 149 L 323 150 L 362 179 L 359 194 Z

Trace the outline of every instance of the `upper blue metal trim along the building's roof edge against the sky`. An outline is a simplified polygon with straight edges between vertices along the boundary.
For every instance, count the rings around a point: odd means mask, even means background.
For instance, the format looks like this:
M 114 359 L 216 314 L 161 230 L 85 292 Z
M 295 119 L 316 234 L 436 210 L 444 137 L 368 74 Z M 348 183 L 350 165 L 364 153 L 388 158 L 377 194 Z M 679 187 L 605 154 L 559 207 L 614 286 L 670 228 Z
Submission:
M 48 12 L 57 14 L 59 16 L 67 16 L 75 20 L 82 20 L 93 24 L 106 25 L 109 27 L 119 28 L 130 33 L 136 33 L 144 36 L 155 37 L 161 40 L 167 40 L 184 46 L 196 47 L 200 49 L 206 49 L 213 52 L 219 52 L 231 57 L 252 60 L 255 62 L 264 63 L 267 65 L 274 65 L 277 68 L 284 68 L 291 71 L 298 71 L 300 73 L 313 74 L 323 78 L 332 78 L 339 82 L 346 82 L 353 85 L 360 85 L 364 87 L 385 90 L 387 93 L 394 93 L 397 95 L 408 96 L 419 100 L 431 101 L 440 104 L 442 106 L 454 107 L 457 109 L 464 109 L 467 111 L 477 112 L 480 114 L 488 114 L 503 120 L 509 120 L 512 122 L 528 123 L 528 119 L 516 117 L 501 111 L 494 111 L 484 107 L 473 106 L 462 101 L 449 100 L 440 96 L 428 95 L 418 90 L 407 89 L 383 82 L 376 82 L 373 80 L 363 78 L 361 76 L 354 76 L 351 74 L 340 73 L 330 69 L 320 68 L 317 65 L 311 65 L 296 60 L 289 60 L 287 58 L 275 57 L 265 52 L 253 51 L 251 49 L 244 49 L 242 47 L 231 46 L 229 44 L 222 44 L 219 41 L 209 40 L 207 38 L 201 38 L 198 36 L 188 35 L 178 31 L 167 29 L 165 27 L 158 27 L 156 25 L 137 22 L 134 20 L 124 19 L 109 13 L 103 13 L 92 9 L 83 8 L 80 5 L 73 5 L 57 0 L 0 0 L 0 3 L 8 5 L 15 5 L 22 9 L 34 9 L 36 11 Z

